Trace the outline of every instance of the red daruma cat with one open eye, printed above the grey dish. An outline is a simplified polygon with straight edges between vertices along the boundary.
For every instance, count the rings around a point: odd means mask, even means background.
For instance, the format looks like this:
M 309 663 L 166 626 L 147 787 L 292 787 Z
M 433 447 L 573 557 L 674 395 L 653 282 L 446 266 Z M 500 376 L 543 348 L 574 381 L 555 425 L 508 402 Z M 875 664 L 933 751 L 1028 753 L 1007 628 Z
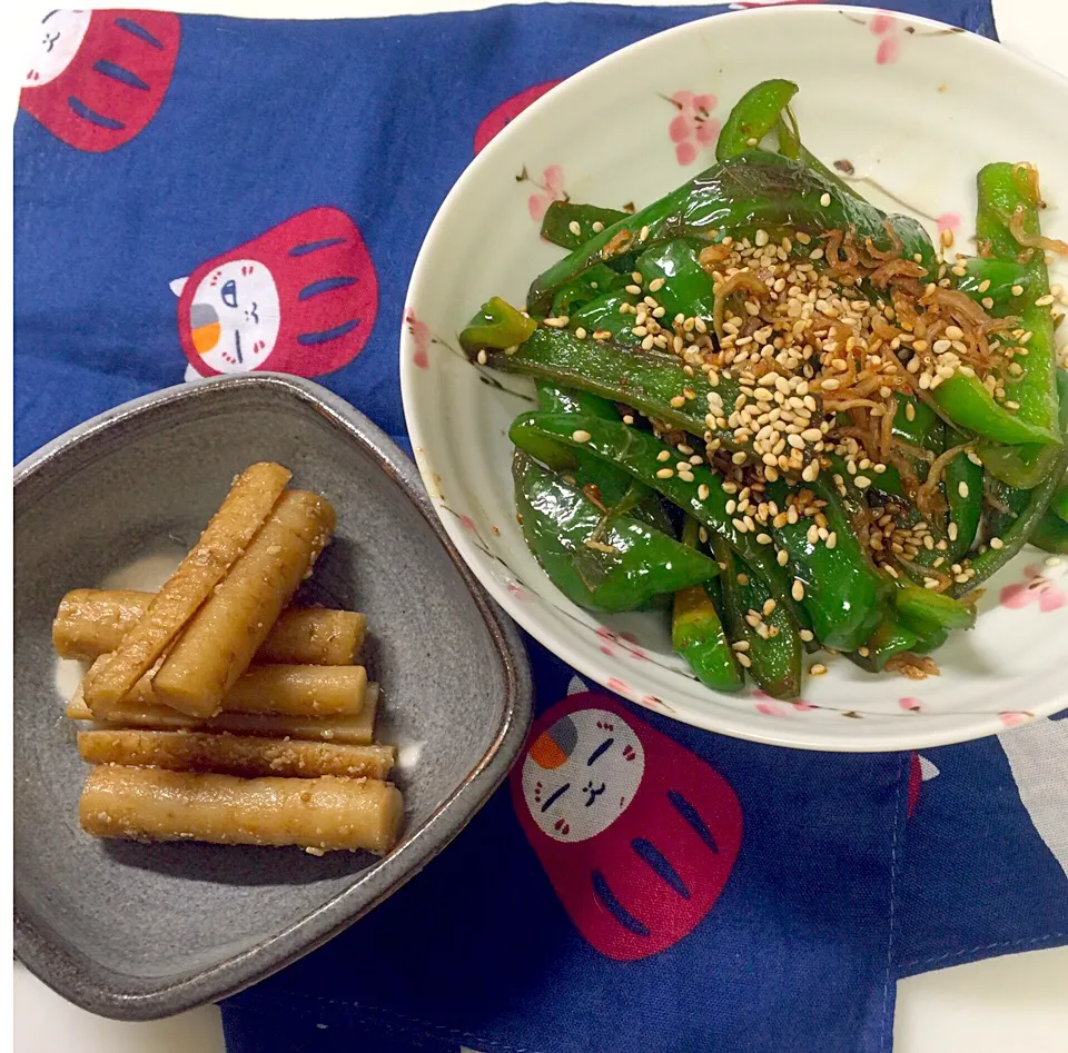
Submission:
M 313 208 L 172 281 L 187 379 L 333 372 L 367 342 L 378 281 L 356 225 Z

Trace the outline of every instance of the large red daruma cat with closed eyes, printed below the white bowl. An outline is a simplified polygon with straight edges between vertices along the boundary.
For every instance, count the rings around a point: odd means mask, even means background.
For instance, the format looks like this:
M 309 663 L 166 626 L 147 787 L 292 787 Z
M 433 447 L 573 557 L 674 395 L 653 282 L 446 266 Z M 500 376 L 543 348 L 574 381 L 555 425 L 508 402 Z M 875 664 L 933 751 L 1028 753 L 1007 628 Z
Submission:
M 589 692 L 534 725 L 512 796 L 564 910 L 616 961 L 656 954 L 691 932 L 719 898 L 741 844 L 730 784 Z

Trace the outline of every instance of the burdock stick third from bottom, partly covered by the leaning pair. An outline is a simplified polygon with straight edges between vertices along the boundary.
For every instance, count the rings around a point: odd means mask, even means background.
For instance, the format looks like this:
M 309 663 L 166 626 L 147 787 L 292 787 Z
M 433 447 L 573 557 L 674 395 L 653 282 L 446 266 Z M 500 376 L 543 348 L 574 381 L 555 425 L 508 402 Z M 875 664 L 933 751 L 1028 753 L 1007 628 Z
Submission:
M 235 735 L 263 735 L 268 738 L 299 738 L 308 742 L 346 743 L 365 746 L 374 737 L 375 712 L 378 707 L 378 685 L 367 685 L 364 708 L 355 716 L 329 717 L 291 716 L 269 713 L 227 713 L 224 711 L 210 719 L 191 717 L 171 709 L 170 706 L 120 703 L 110 721 L 101 721 L 103 727 L 148 727 L 164 731 L 186 729 L 206 732 L 231 732 Z M 93 721 L 81 692 L 67 705 L 67 716 L 72 721 Z

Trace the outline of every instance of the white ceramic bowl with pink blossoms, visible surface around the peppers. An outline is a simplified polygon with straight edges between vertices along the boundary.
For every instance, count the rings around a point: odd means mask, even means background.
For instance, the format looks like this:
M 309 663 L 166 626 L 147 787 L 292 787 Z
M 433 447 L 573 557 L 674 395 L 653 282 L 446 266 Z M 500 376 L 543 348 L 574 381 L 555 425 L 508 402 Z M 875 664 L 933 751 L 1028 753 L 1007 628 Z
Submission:
M 464 172 L 431 227 L 408 290 L 400 377 L 434 505 L 464 559 L 527 632 L 632 702 L 699 727 L 815 749 L 902 749 L 1062 709 L 1068 559 L 1035 549 L 989 583 L 978 627 L 937 653 L 940 676 L 917 683 L 820 656 L 829 673 L 808 677 L 805 701 L 793 704 L 704 688 L 673 654 L 661 617 L 581 610 L 527 552 L 505 433 L 531 407 L 522 396 L 533 386 L 512 376 L 497 377 L 503 389 L 483 383 L 456 334 L 491 295 L 522 304 L 531 279 L 558 258 L 532 218 L 546 196 L 565 190 L 613 207 L 653 200 L 712 163 L 704 140 L 714 122 L 770 76 L 798 81 L 805 142 L 828 162 L 852 162 L 874 203 L 926 218 L 932 234 L 952 227 L 967 247 L 977 170 L 1026 159 L 1044 176 L 1047 232 L 1068 236 L 1057 209 L 1068 199 L 1068 81 L 998 44 L 923 19 L 831 7 L 716 16 L 651 37 L 523 112 Z M 694 119 L 694 96 L 709 97 L 696 99 L 704 121 Z

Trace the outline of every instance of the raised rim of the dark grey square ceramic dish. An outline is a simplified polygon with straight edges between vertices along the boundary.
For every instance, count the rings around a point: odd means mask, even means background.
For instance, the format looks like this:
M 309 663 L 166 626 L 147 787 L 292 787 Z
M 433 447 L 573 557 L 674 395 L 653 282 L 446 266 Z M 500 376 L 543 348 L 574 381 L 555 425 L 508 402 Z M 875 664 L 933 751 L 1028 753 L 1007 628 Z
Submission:
M 83 974 L 77 961 L 66 956 L 62 965 L 59 968 L 55 967 L 51 963 L 52 944 L 28 918 L 22 916 L 18 871 L 16 871 L 16 955 L 34 975 L 63 997 L 92 1013 L 117 1020 L 155 1020 L 170 1016 L 236 994 L 320 946 L 333 935 L 357 921 L 415 876 L 463 830 L 503 782 L 530 728 L 532 715 L 530 665 L 514 625 L 490 599 L 456 553 L 423 489 L 418 471 L 412 460 L 367 417 L 317 384 L 281 374 L 263 372 L 214 378 L 165 388 L 100 414 L 41 447 L 16 466 L 14 486 L 18 488 L 20 483 L 29 479 L 57 457 L 92 440 L 119 421 L 177 401 L 190 398 L 214 398 L 216 391 L 249 386 L 275 390 L 310 406 L 334 428 L 360 445 L 416 506 L 471 592 L 486 629 L 501 655 L 504 667 L 505 706 L 494 741 L 481 761 L 423 826 L 407 837 L 390 855 L 363 871 L 345 891 L 276 933 L 259 946 L 244 951 L 209 970 L 156 990 L 136 994 L 109 990 L 92 982 Z M 61 973 L 68 973 L 68 976 L 58 975 Z M 115 974 L 111 973 L 111 975 Z

